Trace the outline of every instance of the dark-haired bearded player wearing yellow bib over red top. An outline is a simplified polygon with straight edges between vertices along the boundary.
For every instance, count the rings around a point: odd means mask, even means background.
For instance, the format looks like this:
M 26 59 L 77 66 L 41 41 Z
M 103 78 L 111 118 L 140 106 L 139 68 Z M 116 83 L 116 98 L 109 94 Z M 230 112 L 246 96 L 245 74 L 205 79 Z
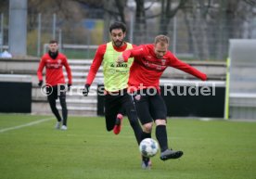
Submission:
M 126 26 L 122 22 L 111 24 L 109 32 L 111 42 L 98 46 L 86 79 L 83 96 L 88 96 L 89 87 L 96 77 L 96 72 L 100 65 L 103 64 L 107 130 L 113 130 L 114 134 L 121 132 L 122 118 L 125 111 L 139 144 L 142 129 L 134 109 L 133 98 L 127 94 L 126 89 L 128 87 L 129 70 L 134 59 L 129 58 L 120 65 L 117 65 L 115 61 L 124 50 L 132 49 L 134 45 L 124 41 Z

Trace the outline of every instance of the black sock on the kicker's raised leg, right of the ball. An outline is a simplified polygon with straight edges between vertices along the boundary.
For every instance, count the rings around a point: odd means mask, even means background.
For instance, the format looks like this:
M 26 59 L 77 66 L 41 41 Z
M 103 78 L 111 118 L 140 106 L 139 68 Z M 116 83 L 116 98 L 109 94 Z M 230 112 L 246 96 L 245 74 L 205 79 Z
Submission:
M 160 144 L 160 151 L 163 152 L 168 149 L 167 133 L 165 125 L 158 125 L 156 127 L 156 137 Z

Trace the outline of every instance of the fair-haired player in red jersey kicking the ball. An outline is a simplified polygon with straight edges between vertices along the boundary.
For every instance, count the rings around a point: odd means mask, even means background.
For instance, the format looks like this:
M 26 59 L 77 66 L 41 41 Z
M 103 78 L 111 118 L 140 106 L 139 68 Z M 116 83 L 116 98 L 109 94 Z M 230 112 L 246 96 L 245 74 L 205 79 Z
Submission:
M 167 67 L 183 70 L 202 81 L 207 75 L 176 58 L 168 50 L 169 38 L 158 35 L 152 45 L 140 45 L 126 50 L 117 59 L 123 63 L 128 58 L 134 58 L 130 70 L 129 92 L 133 93 L 135 109 L 143 125 L 142 140 L 151 137 L 153 121 L 156 123 L 156 137 L 160 144 L 160 160 L 178 159 L 183 151 L 169 149 L 166 131 L 167 109 L 160 96 L 160 76 Z M 148 158 L 144 158 L 144 165 L 148 166 Z

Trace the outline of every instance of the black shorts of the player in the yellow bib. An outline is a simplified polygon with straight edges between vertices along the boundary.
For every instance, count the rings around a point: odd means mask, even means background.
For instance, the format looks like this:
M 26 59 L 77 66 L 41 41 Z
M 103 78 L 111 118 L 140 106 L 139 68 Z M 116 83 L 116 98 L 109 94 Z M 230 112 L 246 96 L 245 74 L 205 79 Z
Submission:
M 133 97 L 122 90 L 121 93 L 105 95 L 105 120 L 106 128 L 111 131 L 115 126 L 118 113 L 127 114 L 129 120 L 136 118 Z

